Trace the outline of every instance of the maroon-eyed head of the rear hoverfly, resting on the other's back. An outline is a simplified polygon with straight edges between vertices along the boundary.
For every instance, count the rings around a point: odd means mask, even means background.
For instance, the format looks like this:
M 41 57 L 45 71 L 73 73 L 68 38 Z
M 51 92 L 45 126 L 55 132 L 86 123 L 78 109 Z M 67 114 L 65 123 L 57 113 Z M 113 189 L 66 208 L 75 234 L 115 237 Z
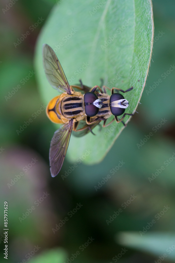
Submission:
M 84 94 L 84 109 L 88 117 L 93 117 L 98 113 L 99 108 L 102 107 L 100 102 L 101 100 L 98 99 L 95 93 L 86 92 Z

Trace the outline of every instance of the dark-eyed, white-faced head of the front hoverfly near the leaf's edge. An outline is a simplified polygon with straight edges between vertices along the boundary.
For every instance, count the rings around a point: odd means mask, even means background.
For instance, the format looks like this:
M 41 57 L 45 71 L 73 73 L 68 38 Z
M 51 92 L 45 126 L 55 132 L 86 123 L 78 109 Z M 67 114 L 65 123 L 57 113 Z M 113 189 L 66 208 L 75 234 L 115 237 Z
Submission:
M 125 109 L 128 107 L 129 103 L 123 95 L 120 93 L 113 93 L 110 96 L 110 110 L 114 116 L 120 116 L 125 112 Z

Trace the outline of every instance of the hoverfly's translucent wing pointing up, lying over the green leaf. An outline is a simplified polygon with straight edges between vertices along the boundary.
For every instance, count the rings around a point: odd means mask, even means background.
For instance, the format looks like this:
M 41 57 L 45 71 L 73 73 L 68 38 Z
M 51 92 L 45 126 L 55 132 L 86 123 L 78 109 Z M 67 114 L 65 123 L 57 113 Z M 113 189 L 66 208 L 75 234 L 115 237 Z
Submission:
M 50 85 L 59 92 L 65 91 L 71 94 L 72 89 L 66 79 L 61 64 L 54 50 L 47 44 L 43 45 L 43 65 Z

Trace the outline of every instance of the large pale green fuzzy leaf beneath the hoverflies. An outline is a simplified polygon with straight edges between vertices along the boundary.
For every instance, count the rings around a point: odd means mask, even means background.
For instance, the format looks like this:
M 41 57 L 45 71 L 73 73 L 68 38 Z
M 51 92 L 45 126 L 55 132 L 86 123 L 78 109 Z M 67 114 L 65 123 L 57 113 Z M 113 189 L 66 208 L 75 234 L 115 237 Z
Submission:
M 70 85 L 81 78 L 92 87 L 100 85 L 103 78 L 109 88 L 133 86 L 124 97 L 129 101 L 126 113 L 135 112 L 149 70 L 153 29 L 151 0 L 68 0 L 56 4 L 36 47 L 35 67 L 44 102 L 57 96 L 43 69 L 42 45 L 47 43 L 56 52 Z M 126 116 L 125 123 L 130 119 Z M 84 155 L 84 163 L 98 163 L 123 129 L 122 123 L 113 123 L 101 131 L 97 126 L 96 136 L 71 136 L 67 156 L 76 161 L 88 150 L 91 153 Z

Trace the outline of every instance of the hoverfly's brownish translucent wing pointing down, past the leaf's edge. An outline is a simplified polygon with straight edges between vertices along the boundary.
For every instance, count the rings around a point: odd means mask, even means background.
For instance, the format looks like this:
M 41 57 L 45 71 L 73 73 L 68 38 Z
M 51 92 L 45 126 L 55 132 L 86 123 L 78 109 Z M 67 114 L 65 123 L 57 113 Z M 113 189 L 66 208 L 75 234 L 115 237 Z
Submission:
M 49 160 L 52 177 L 56 176 L 62 167 L 69 145 L 73 124 L 73 119 L 68 123 L 62 124 L 60 128 L 55 131 L 51 140 Z

